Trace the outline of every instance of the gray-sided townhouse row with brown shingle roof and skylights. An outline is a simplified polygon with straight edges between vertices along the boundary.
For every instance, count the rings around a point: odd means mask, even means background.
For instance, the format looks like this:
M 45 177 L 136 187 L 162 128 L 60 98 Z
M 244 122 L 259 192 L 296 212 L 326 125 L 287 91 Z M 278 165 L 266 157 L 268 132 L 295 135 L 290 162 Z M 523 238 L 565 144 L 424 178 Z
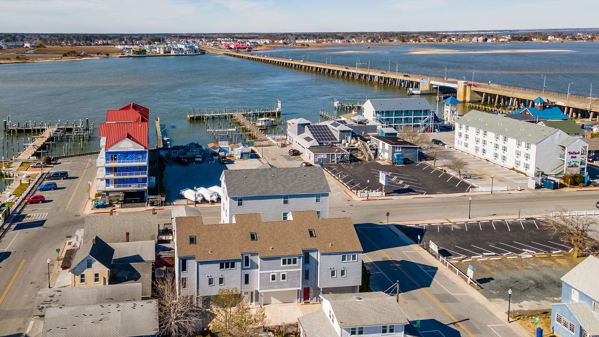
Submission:
M 315 300 L 355 293 L 362 284 L 362 246 L 350 218 L 318 218 L 292 211 L 288 220 L 237 214 L 235 224 L 204 225 L 177 217 L 177 282 L 184 296 L 237 288 L 252 305 Z

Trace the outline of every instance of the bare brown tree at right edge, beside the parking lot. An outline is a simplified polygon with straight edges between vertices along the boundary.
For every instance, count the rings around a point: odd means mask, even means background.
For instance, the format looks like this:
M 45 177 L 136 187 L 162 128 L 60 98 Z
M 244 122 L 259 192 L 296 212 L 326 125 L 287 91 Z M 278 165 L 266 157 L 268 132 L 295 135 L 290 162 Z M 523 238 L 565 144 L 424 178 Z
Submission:
M 578 257 L 581 251 L 583 255 L 599 255 L 597 241 L 589 238 L 593 231 L 591 225 L 596 224 L 592 218 L 569 216 L 561 206 L 556 207 L 552 213 L 541 221 L 541 225 L 551 231 L 552 235 L 558 235 L 560 239 L 573 245 L 574 257 Z

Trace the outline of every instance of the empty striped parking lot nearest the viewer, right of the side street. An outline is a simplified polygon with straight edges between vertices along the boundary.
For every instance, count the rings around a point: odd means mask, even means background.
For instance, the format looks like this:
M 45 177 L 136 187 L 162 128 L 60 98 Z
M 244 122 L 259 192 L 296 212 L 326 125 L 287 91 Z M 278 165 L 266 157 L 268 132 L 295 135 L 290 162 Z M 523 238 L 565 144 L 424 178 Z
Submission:
M 396 225 L 420 245 L 430 241 L 439 254 L 449 258 L 501 260 L 513 255 L 561 254 L 572 246 L 541 227 L 540 219 L 505 219 L 445 222 L 440 224 Z M 508 256 L 511 255 L 511 256 Z

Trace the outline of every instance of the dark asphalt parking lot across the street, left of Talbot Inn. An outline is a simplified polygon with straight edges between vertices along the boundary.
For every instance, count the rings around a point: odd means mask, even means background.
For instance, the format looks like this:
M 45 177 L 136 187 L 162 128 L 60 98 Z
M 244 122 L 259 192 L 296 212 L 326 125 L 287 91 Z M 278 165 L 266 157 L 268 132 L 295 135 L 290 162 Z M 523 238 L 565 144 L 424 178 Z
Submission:
M 382 189 L 379 171 L 388 171 L 387 195 L 426 195 L 467 192 L 471 185 L 448 173 L 424 163 L 391 165 L 377 161 L 358 161 L 349 164 L 326 164 L 324 169 L 352 190 Z M 370 183 L 368 183 L 370 180 Z

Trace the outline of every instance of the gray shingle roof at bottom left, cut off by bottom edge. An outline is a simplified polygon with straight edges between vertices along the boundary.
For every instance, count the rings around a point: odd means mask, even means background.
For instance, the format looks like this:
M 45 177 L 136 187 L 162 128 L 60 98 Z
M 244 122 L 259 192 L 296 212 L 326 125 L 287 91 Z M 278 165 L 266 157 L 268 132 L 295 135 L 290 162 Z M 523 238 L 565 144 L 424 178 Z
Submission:
M 49 308 L 42 337 L 126 337 L 158 334 L 156 300 Z

